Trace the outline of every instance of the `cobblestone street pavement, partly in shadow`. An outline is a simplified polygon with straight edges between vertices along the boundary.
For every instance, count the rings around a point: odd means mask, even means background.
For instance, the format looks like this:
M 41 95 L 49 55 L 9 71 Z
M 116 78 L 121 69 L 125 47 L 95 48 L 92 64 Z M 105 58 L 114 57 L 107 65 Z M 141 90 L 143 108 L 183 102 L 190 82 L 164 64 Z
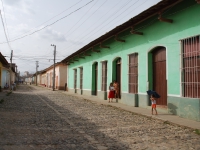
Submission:
M 0 104 L 0 150 L 200 150 L 190 129 L 20 85 Z

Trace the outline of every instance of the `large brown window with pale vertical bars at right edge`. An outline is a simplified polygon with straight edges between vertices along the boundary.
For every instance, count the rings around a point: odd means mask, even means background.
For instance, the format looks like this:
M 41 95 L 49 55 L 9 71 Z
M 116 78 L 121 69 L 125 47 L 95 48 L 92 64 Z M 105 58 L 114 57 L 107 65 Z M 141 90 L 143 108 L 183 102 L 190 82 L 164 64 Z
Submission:
M 200 36 L 181 40 L 182 96 L 200 98 Z

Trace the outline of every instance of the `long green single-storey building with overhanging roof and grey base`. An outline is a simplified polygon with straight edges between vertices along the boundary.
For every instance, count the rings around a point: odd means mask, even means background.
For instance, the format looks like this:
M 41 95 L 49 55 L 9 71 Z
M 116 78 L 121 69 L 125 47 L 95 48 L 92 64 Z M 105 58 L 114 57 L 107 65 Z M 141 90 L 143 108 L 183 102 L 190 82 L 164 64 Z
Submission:
M 68 92 L 106 100 L 116 80 L 119 103 L 149 108 L 151 89 L 158 108 L 200 121 L 200 1 L 162 0 L 62 62 Z

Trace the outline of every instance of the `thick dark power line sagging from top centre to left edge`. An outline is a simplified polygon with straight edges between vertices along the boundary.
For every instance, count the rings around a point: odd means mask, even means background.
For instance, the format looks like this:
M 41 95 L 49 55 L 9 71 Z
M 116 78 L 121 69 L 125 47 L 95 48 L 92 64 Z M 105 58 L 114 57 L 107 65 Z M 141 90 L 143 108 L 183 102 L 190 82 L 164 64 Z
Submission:
M 49 27 L 49 26 L 52 26 L 53 24 L 59 22 L 60 20 L 63 20 L 63 19 L 65 19 L 66 17 L 70 16 L 71 14 L 73 14 L 73 13 L 79 11 L 80 9 L 86 7 L 87 5 L 89 5 L 89 4 L 90 4 L 91 2 L 93 2 L 93 1 L 94 1 L 94 0 L 91 0 L 90 2 L 88 2 L 88 3 L 86 3 L 85 5 L 79 7 L 78 9 L 76 9 L 75 11 L 73 11 L 73 12 L 69 13 L 68 15 L 66 15 L 66 16 L 64 16 L 64 17 L 62 17 L 62 18 L 60 18 L 60 19 L 58 19 L 58 20 L 56 20 L 56 21 L 54 21 L 54 22 L 51 23 L 51 24 L 48 24 L 48 25 L 42 27 L 41 29 L 35 30 L 34 32 L 32 32 L 32 33 L 30 33 L 30 34 L 24 35 L 24 36 L 22 36 L 22 37 L 19 37 L 19 38 L 17 38 L 17 39 L 14 39 L 14 40 L 10 40 L 10 41 L 7 41 L 7 42 L 1 42 L 0 44 L 4 44 L 4 43 L 8 43 L 8 42 L 14 42 L 14 41 L 16 41 L 16 40 L 25 38 L 26 36 L 30 36 L 30 35 L 32 35 L 32 34 L 34 34 L 34 33 L 36 33 L 36 32 L 39 32 L 39 31 L 41 31 L 41 30 L 43 30 L 43 29 L 45 29 L 45 28 L 47 28 L 47 27 Z

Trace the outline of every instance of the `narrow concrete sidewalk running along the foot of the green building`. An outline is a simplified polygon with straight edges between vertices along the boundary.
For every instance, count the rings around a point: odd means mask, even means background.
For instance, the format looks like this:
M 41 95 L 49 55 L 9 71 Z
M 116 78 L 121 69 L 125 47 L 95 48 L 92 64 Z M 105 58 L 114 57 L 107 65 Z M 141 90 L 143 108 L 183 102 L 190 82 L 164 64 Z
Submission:
M 95 103 L 103 104 L 103 105 L 110 105 L 113 107 L 117 107 L 129 112 L 133 112 L 139 115 L 147 116 L 147 117 L 152 117 L 154 119 L 159 119 L 163 120 L 166 122 L 169 122 L 171 124 L 176 124 L 179 126 L 191 128 L 191 129 L 199 129 L 200 130 L 200 122 L 193 121 L 190 119 L 184 119 L 176 115 L 171 115 L 162 111 L 158 110 L 158 115 L 151 115 L 151 109 L 145 109 L 145 108 L 140 108 L 140 107 L 133 107 L 133 106 L 128 106 L 122 103 L 116 103 L 115 100 L 113 103 L 108 103 L 108 100 L 101 100 L 96 96 L 85 96 L 85 95 L 78 95 L 78 94 L 72 94 L 68 92 L 63 92 L 66 95 L 71 95 L 71 96 L 76 96 L 85 100 L 90 100 Z M 120 100 L 119 100 L 120 101 Z

